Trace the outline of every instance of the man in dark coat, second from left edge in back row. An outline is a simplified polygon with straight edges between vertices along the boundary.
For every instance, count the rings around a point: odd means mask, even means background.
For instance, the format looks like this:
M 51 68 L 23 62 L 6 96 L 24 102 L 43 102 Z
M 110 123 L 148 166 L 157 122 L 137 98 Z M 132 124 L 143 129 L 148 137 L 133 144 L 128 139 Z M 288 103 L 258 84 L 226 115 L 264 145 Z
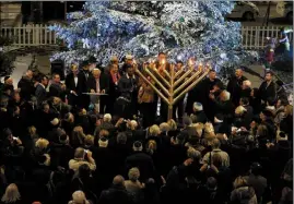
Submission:
M 25 75 L 20 80 L 17 88 L 21 89 L 21 97 L 25 100 L 30 100 L 31 96 L 35 94 L 33 72 L 31 70 L 27 70 Z

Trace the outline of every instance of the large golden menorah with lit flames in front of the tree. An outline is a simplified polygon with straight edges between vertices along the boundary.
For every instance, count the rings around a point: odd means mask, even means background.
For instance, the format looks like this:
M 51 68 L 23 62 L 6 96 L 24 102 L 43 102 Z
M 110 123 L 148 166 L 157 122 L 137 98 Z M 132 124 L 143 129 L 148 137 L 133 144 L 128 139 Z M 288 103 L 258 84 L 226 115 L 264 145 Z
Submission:
M 169 120 L 173 118 L 173 106 L 184 97 L 185 94 L 191 91 L 209 73 L 210 69 L 211 67 L 209 64 L 203 69 L 202 63 L 200 63 L 196 71 L 195 64 L 189 60 L 186 71 L 185 67 L 175 71 L 175 64 L 173 63 L 169 64 L 168 71 L 166 69 L 158 69 L 156 64 L 152 62 L 151 64 L 144 63 L 143 69 L 137 69 L 136 72 L 153 88 L 161 97 L 162 101 L 168 105 L 167 120 Z M 150 76 L 155 84 L 148 80 L 148 76 Z

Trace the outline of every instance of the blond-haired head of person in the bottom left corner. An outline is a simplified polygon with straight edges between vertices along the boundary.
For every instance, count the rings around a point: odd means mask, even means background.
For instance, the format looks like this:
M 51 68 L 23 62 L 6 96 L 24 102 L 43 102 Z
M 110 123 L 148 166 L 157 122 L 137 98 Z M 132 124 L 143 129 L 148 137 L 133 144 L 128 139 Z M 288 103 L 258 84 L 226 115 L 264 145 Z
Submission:
M 21 194 L 15 183 L 7 187 L 5 193 L 1 199 L 2 204 L 22 204 Z

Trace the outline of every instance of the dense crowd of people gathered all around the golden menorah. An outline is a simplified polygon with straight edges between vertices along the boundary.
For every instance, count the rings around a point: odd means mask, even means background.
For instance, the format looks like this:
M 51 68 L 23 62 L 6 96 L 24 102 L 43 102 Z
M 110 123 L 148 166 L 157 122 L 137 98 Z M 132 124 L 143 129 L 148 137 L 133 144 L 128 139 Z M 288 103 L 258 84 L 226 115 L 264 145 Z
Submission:
M 170 64 L 161 52 L 146 65 L 164 79 Z M 271 72 L 252 88 L 242 69 L 228 84 L 210 70 L 168 120 L 132 56 L 70 69 L 64 83 L 31 70 L 17 87 L 4 77 L 0 203 L 293 202 L 293 106 Z

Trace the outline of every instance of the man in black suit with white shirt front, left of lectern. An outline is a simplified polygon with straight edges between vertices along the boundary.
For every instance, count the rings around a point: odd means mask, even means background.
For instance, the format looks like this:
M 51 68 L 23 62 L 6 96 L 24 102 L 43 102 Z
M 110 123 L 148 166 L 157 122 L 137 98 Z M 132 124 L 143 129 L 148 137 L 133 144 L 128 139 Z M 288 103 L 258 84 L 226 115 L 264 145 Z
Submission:
M 81 80 L 79 79 L 79 70 L 77 64 L 72 64 L 71 72 L 66 76 L 67 93 L 69 93 L 69 104 L 73 107 L 79 105 L 79 96 Z

